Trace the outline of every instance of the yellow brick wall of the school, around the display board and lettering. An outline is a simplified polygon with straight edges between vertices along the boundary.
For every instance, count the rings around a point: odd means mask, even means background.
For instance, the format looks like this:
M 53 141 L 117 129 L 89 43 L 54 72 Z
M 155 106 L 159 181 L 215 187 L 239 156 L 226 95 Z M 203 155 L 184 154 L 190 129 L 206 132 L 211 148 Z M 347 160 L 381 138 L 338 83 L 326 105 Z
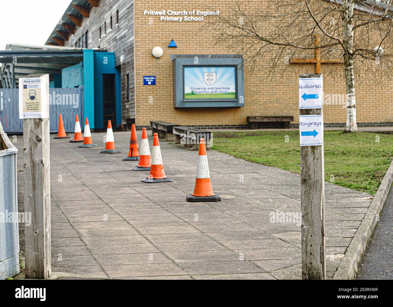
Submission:
M 251 6 L 259 1 L 244 1 Z M 234 54 L 224 46 L 214 46 L 213 32 L 201 29 L 204 22 L 160 21 L 153 16 L 149 25 L 146 10 L 220 10 L 225 14 L 225 1 L 157 1 L 139 0 L 134 2 L 135 27 L 135 93 L 136 125 L 148 126 L 149 121 L 164 120 L 181 125 L 241 125 L 246 124 L 246 117 L 294 116 L 298 122 L 298 74 L 315 72 L 314 64 L 290 64 L 291 73 L 276 74 L 266 79 L 267 67 L 254 71 L 244 70 L 244 107 L 241 108 L 173 108 L 173 65 L 170 54 Z M 215 18 L 214 16 L 205 19 Z M 168 48 L 174 39 L 177 48 Z M 163 48 L 163 56 L 156 59 L 151 51 L 155 46 Z M 310 54 L 313 58 L 313 54 Z M 285 66 L 285 63 L 282 63 Z M 324 92 L 328 95 L 345 94 L 341 64 L 322 64 L 324 74 Z M 143 86 L 143 75 L 155 75 L 156 86 Z M 392 89 L 389 81 L 366 84 L 355 79 L 357 121 L 391 122 L 393 121 Z M 152 103 L 149 103 L 152 97 Z M 325 105 L 323 109 L 325 123 L 345 123 L 346 107 Z

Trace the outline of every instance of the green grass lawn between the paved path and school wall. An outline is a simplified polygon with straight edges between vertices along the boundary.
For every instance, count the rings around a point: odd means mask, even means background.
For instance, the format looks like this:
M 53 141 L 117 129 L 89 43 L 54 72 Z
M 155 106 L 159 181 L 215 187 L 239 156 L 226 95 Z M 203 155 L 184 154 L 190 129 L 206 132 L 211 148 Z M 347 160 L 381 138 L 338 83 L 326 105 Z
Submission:
M 393 135 L 324 131 L 324 147 L 325 181 L 375 195 L 393 158 Z M 215 132 L 212 149 L 300 174 L 298 131 Z

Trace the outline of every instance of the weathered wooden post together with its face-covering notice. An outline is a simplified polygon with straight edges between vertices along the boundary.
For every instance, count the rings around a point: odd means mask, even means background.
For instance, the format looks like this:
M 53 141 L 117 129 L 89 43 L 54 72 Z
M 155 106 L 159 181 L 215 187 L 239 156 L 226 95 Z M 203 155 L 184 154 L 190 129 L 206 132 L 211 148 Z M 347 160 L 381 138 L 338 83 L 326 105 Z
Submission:
M 26 278 L 51 275 L 49 75 L 19 79 L 19 114 L 23 118 Z

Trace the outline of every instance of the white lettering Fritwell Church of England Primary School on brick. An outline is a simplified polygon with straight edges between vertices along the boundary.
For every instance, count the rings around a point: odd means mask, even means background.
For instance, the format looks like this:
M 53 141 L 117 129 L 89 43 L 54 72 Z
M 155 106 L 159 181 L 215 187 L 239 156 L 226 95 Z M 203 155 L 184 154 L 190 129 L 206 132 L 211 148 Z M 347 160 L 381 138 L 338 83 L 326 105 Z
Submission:
M 177 21 L 177 22 L 204 21 L 204 17 L 220 15 L 220 10 L 200 11 L 200 10 L 194 9 L 192 11 L 187 11 L 187 10 L 174 11 L 171 9 L 169 9 L 169 10 L 163 9 L 160 11 L 154 11 L 154 10 L 150 9 L 150 10 L 144 10 L 143 15 L 159 16 L 160 21 Z

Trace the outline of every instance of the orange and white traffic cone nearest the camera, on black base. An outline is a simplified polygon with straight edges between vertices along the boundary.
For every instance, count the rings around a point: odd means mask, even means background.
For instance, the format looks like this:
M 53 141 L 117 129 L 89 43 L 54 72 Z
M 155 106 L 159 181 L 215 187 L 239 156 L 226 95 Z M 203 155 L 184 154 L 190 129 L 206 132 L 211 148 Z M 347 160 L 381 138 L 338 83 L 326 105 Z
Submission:
M 208 156 L 206 155 L 205 140 L 200 139 L 198 165 L 196 166 L 196 178 L 194 193 L 187 195 L 187 202 L 219 202 L 221 197 L 213 193 L 210 182 Z

